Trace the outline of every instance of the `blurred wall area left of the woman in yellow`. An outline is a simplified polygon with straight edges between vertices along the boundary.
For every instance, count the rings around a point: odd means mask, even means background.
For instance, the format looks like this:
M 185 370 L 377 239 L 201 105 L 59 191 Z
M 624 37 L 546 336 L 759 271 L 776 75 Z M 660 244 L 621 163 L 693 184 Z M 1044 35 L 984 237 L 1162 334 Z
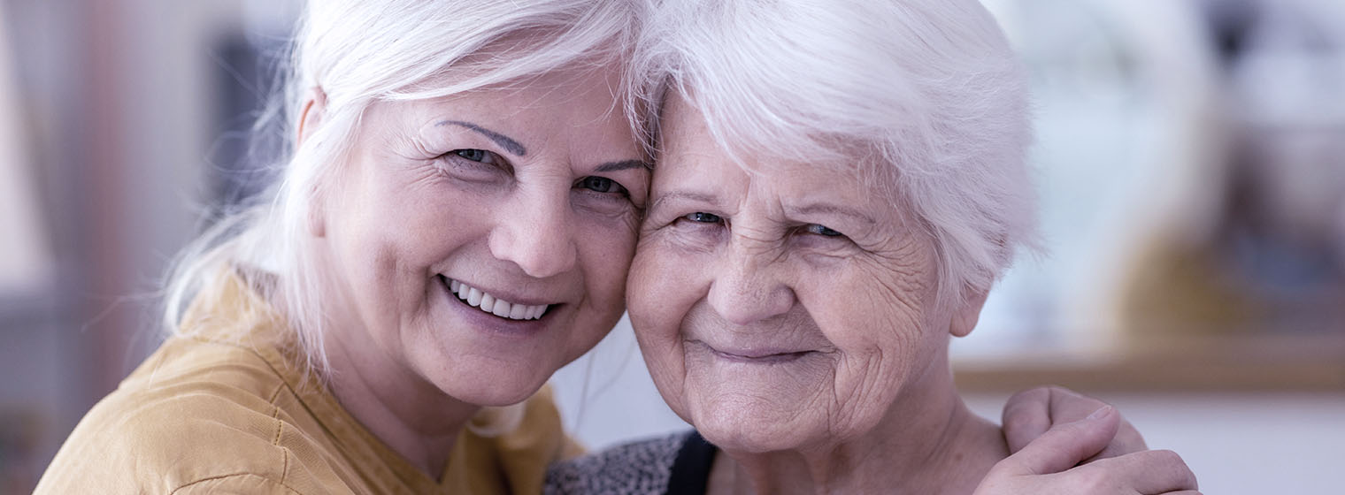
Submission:
M 231 71 L 221 47 L 269 32 L 292 13 L 284 5 L 0 3 L 0 77 L 17 89 L 0 105 L 28 157 L 0 165 L 31 178 L 5 187 L 35 192 L 46 227 L 30 242 L 44 280 L 0 293 L 0 492 L 31 490 L 79 417 L 160 340 L 159 281 L 211 200 L 207 155 Z

